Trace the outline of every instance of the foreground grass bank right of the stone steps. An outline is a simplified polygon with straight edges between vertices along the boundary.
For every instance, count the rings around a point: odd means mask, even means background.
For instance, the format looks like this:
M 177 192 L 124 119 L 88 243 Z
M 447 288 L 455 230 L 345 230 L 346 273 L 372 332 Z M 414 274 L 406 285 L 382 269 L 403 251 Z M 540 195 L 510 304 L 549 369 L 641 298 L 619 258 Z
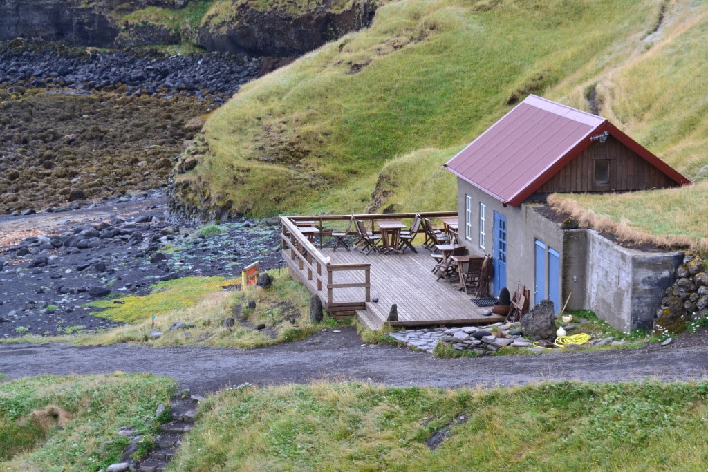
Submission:
M 322 384 L 202 403 L 173 470 L 703 470 L 708 384 Z M 439 447 L 426 447 L 435 432 Z

